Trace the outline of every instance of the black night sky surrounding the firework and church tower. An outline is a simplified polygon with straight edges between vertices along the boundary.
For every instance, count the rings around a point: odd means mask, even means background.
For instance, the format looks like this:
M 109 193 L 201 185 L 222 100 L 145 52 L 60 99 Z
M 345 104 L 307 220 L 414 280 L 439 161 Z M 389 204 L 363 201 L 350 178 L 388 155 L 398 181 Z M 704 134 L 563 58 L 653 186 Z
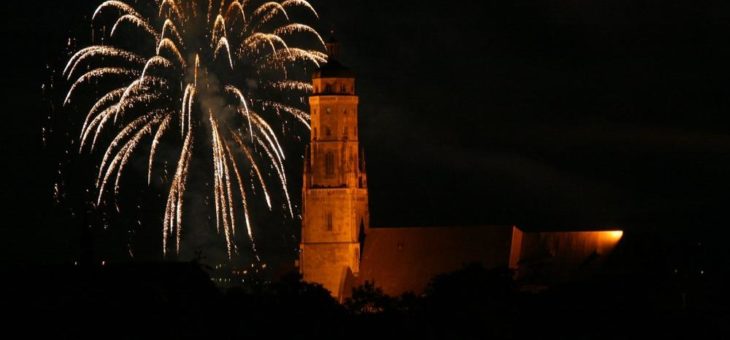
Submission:
M 41 85 L 94 3 L 0 5 L 2 261 L 77 252 Z M 312 3 L 358 74 L 375 226 L 727 228 L 727 1 Z

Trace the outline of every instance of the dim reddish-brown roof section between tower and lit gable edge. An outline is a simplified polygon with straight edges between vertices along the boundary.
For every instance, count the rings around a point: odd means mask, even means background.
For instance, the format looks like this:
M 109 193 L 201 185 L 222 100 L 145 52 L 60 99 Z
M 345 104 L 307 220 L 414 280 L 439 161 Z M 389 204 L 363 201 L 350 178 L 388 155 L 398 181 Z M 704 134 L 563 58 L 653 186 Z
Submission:
M 372 228 L 365 237 L 359 284 L 372 281 L 391 296 L 422 293 L 434 276 L 481 262 L 507 266 L 512 227 Z

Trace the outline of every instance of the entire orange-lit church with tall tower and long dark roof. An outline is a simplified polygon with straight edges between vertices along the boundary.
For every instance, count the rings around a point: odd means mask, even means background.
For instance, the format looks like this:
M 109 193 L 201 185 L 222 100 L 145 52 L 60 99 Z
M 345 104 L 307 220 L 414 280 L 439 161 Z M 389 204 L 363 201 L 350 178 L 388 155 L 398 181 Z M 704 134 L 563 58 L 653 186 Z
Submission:
M 384 293 L 422 293 L 429 280 L 469 263 L 505 267 L 519 278 L 559 282 L 590 272 L 622 231 L 540 232 L 517 226 L 383 228 L 370 225 L 368 182 L 358 141 L 355 74 L 327 43 L 309 98 L 298 267 L 339 301 L 372 282 Z

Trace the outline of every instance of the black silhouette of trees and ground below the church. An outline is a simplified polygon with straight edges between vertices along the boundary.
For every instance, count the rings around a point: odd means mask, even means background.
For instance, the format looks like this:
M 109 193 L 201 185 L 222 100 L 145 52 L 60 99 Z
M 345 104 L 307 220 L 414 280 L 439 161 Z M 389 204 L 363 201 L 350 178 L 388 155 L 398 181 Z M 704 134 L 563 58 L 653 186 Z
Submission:
M 651 241 L 651 240 L 650 240 Z M 466 264 L 423 294 L 367 282 L 343 304 L 296 273 L 217 288 L 191 263 L 5 268 L 4 320 L 23 338 L 702 339 L 730 334 L 725 252 L 624 245 L 580 281 L 525 284 Z M 704 248 L 703 248 L 704 249 Z M 726 248 L 717 248 L 726 249 Z M 719 337 L 718 337 L 719 335 Z

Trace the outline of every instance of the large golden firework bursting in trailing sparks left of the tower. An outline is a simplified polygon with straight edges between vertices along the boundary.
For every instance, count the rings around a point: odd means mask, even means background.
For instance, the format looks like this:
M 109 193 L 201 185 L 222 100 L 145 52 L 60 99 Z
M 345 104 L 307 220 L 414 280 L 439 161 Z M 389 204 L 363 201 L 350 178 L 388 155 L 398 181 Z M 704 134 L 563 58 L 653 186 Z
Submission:
M 272 126 L 292 120 L 309 127 L 308 114 L 280 98 L 302 98 L 311 91 L 307 82 L 290 77 L 291 71 L 318 66 L 326 58 L 320 52 L 320 35 L 290 21 L 293 8 L 317 16 L 304 0 L 255 6 L 247 0 L 158 0 L 140 6 L 105 1 L 92 21 L 94 29 L 103 26 L 102 32 L 108 32 L 104 39 L 110 43 L 83 48 L 68 61 L 63 74 L 75 81 L 64 104 L 75 100 L 82 88 L 96 89 L 79 150 L 94 151 L 105 131 L 113 136 L 99 165 L 97 204 L 107 192 L 118 194 L 124 169 L 141 144 L 150 143 L 145 155 L 148 183 L 163 140 L 178 150 L 162 226 L 165 254 L 180 251 L 185 193 L 195 158 L 211 161 L 216 227 L 225 237 L 229 257 L 236 251 L 239 224 L 255 252 L 249 203 L 258 188 L 271 209 L 267 178 L 278 182 L 293 216 L 285 153 Z M 295 35 L 308 37 L 313 42 L 309 49 L 293 46 Z M 100 84 L 109 89 L 100 91 Z M 218 104 L 208 103 L 211 98 Z

